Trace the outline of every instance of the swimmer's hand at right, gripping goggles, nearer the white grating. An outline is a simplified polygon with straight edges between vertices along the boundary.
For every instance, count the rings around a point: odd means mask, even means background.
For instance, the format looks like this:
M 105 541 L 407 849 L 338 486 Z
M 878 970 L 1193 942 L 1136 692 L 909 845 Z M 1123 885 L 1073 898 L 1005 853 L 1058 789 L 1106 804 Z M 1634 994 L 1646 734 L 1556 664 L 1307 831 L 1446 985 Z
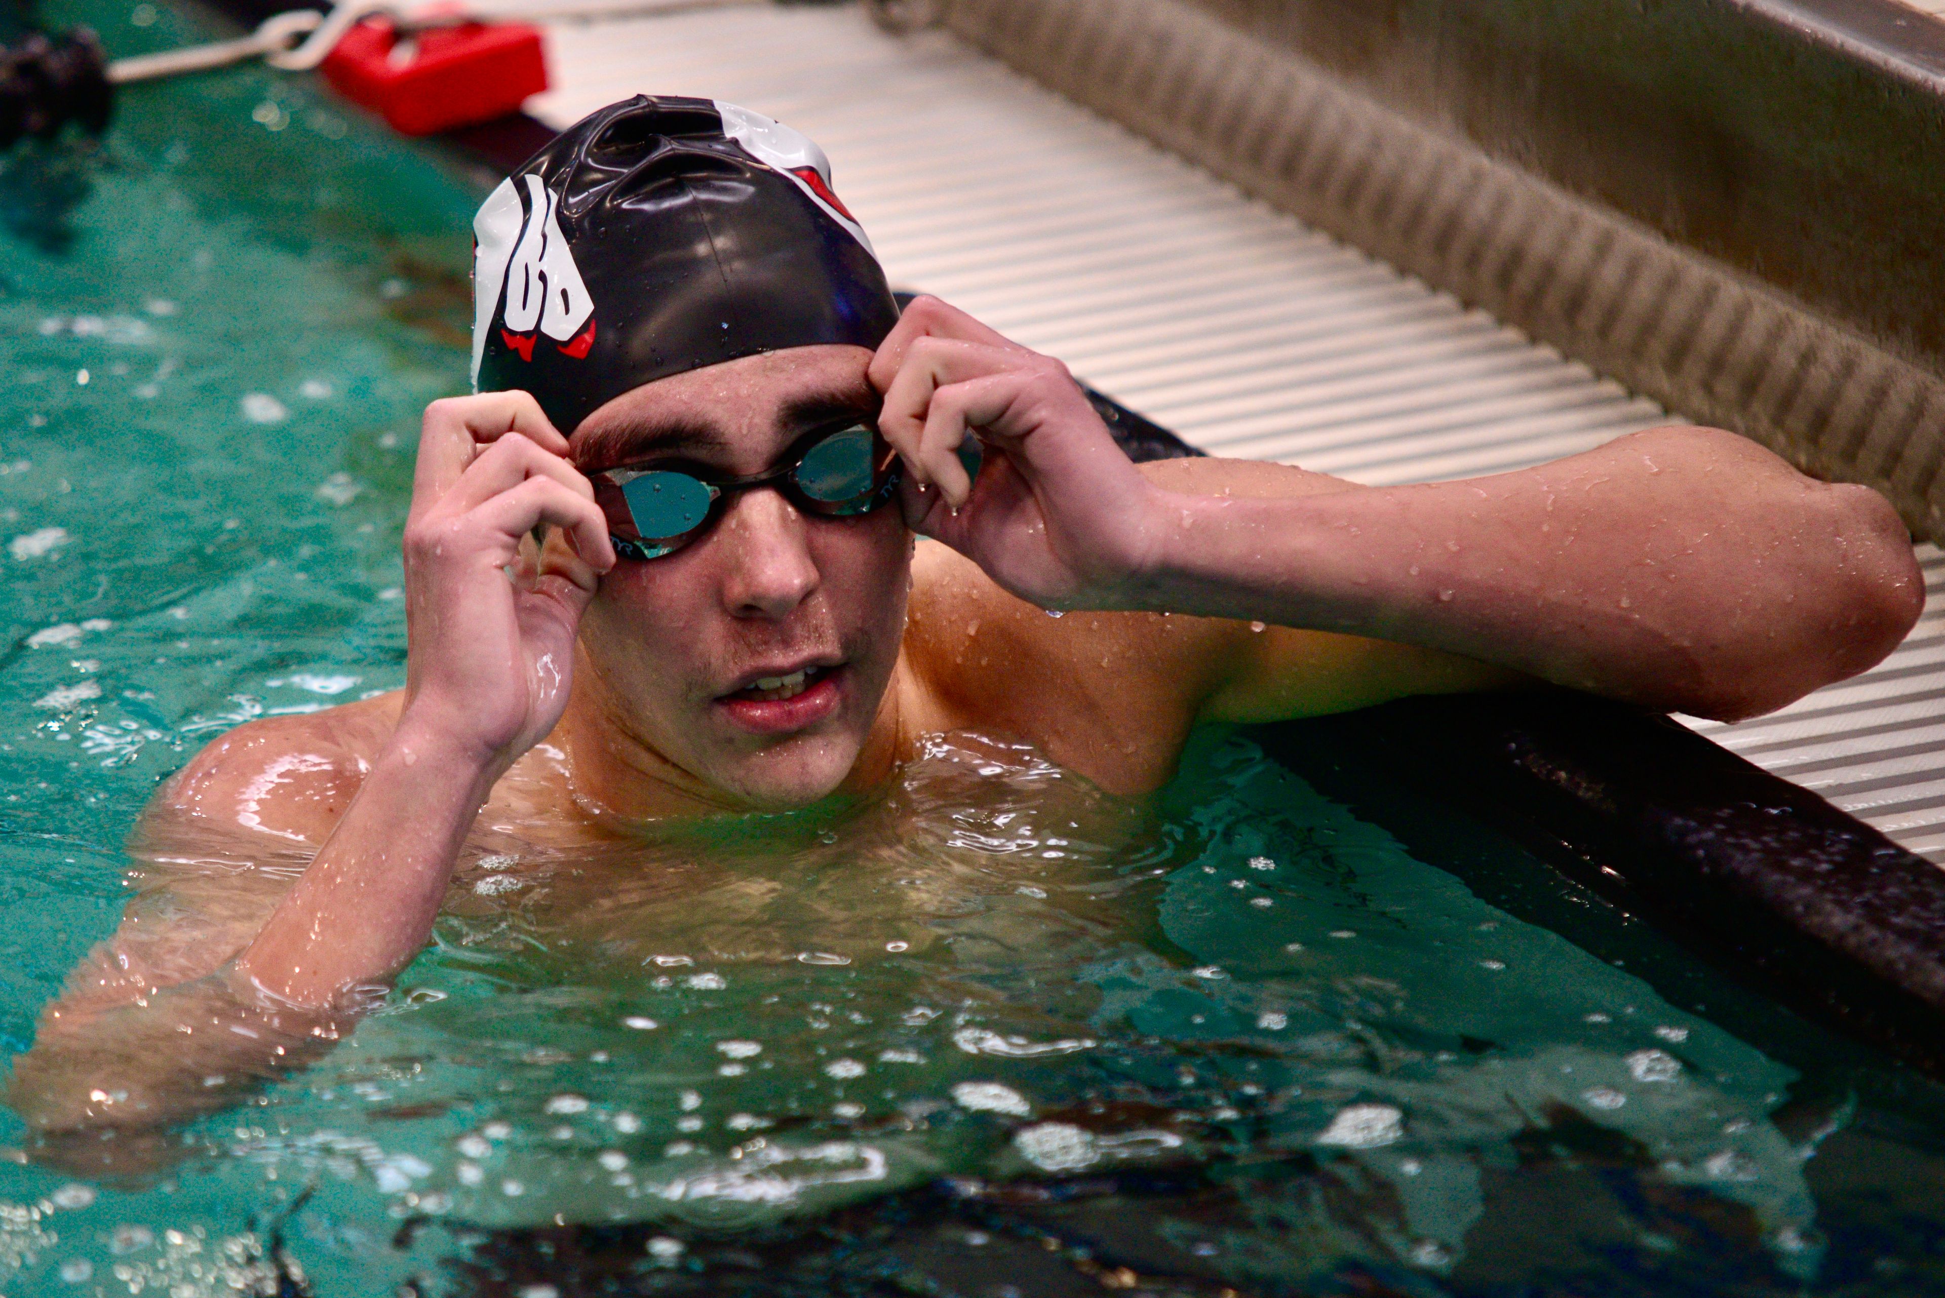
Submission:
M 904 459 L 904 518 L 1044 609 L 1130 607 L 1159 496 L 1052 356 L 918 298 L 869 370 Z M 959 446 L 978 438 L 967 477 Z

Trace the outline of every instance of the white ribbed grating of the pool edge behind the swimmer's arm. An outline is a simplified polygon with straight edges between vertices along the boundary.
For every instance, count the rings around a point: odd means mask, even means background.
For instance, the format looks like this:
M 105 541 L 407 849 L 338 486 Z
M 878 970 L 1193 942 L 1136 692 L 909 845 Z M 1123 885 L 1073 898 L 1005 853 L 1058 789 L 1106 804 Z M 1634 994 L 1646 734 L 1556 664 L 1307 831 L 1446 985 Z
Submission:
M 1389 485 L 1667 418 L 943 33 L 893 39 L 848 6 L 724 8 L 550 41 L 560 90 L 529 103 L 541 119 L 654 91 L 788 121 L 831 154 L 897 284 L 1208 451 Z M 1945 555 L 1924 559 L 1945 590 Z M 1945 860 L 1945 601 L 1879 669 L 1758 722 L 1696 726 Z

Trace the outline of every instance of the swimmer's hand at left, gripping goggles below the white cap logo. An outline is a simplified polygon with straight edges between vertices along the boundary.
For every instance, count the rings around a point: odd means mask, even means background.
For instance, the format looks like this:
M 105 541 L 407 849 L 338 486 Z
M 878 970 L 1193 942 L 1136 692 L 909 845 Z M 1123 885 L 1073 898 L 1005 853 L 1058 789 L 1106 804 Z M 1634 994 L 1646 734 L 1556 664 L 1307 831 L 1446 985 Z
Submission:
M 430 730 L 492 776 L 560 720 L 582 613 L 615 566 L 593 487 L 521 391 L 426 407 L 405 523 L 401 732 Z M 541 523 L 568 543 L 535 547 Z

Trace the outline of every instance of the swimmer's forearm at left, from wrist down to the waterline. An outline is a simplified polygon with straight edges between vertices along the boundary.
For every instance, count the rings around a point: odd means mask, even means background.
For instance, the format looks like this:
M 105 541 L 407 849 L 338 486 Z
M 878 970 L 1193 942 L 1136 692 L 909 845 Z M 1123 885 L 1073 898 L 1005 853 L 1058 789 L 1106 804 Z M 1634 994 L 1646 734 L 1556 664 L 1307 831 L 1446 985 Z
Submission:
M 401 718 L 331 839 L 237 957 L 237 973 L 313 1008 L 389 981 L 432 934 L 496 776 L 475 747 Z

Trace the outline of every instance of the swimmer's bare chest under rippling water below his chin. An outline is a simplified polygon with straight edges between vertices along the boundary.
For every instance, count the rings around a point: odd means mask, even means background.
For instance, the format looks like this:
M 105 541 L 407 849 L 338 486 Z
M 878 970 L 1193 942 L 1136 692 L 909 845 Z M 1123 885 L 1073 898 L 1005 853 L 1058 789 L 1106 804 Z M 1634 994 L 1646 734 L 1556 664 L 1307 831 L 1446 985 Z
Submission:
M 449 944 L 531 938 L 589 973 L 689 961 L 850 963 L 1035 950 L 1120 928 L 1148 800 L 1025 743 L 932 736 L 885 786 L 792 815 L 638 833 L 558 817 L 543 759 L 504 780 L 445 901 Z M 585 811 L 580 813 L 585 817 Z

